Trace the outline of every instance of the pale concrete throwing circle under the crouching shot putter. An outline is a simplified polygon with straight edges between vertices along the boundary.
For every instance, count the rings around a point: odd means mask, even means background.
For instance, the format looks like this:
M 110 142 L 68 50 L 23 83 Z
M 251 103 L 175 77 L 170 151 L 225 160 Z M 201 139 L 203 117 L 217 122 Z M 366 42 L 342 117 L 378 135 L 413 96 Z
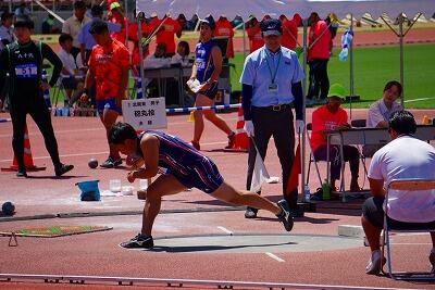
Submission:
M 362 240 L 322 235 L 219 235 L 154 239 L 152 251 L 172 253 L 312 252 L 362 247 Z

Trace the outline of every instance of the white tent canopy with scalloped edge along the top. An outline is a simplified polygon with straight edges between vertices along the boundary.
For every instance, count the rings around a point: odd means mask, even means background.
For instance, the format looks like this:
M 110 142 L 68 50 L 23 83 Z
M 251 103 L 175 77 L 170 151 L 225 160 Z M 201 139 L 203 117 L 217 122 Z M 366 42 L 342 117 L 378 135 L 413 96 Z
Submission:
M 406 13 L 409 17 L 418 13 L 431 17 L 435 12 L 434 3 L 434 0 L 137 0 L 136 11 L 142 11 L 147 15 L 157 13 L 159 16 L 170 13 L 175 17 L 181 13 L 186 16 L 198 14 L 199 17 L 225 14 L 228 18 L 234 18 L 239 15 L 245 20 L 251 14 L 278 16 L 299 13 L 309 16 L 313 11 L 319 15 L 334 12 L 339 18 L 348 13 L 357 18 L 364 13 L 370 13 L 373 18 L 384 13 L 391 17 L 400 13 Z

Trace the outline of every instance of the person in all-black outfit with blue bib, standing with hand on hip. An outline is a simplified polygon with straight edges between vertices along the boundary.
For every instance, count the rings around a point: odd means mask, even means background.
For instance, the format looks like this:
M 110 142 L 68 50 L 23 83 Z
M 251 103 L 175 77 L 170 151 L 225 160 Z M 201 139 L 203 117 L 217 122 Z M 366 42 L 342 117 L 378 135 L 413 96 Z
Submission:
M 16 17 L 14 27 L 17 41 L 8 45 L 0 54 L 0 88 L 9 73 L 11 76 L 9 108 L 13 126 L 12 147 L 18 163 L 16 176 L 27 177 L 24 164 L 24 131 L 27 113 L 30 114 L 44 136 L 55 175 L 61 176 L 74 166 L 62 164 L 59 159 L 50 111 L 45 103 L 42 91 L 48 88 L 47 86 L 52 87 L 55 84 L 62 70 L 62 62 L 48 45 L 32 40 L 30 31 L 34 28 L 34 22 L 28 16 Z M 41 81 L 44 59 L 54 66 L 48 85 Z

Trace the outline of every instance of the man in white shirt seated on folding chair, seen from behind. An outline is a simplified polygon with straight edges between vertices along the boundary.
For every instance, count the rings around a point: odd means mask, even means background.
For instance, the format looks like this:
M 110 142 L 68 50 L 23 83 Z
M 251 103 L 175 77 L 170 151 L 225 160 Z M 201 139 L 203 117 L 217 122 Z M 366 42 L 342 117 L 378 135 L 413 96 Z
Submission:
M 384 185 L 403 178 L 435 179 L 435 149 L 413 137 L 417 130 L 413 115 L 408 111 L 396 112 L 388 124 L 391 141 L 373 155 L 369 168 L 370 190 L 373 197 L 362 205 L 361 223 L 372 251 L 365 273 L 371 275 L 380 274 L 383 266 L 380 237 L 384 224 Z M 406 227 L 413 226 L 413 223 L 428 223 L 427 226 L 435 226 L 435 193 L 432 190 L 419 193 L 390 191 L 388 217 L 391 224 Z M 431 232 L 431 238 L 433 248 L 430 262 L 432 272 L 435 273 L 435 232 Z M 383 261 L 385 262 L 385 259 Z

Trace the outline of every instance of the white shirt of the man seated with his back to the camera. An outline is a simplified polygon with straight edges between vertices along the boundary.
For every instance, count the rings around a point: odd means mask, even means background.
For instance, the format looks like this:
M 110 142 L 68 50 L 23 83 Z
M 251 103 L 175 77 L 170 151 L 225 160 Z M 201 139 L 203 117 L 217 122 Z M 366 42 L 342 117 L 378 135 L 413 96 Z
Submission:
M 435 179 L 434 168 L 434 147 L 410 135 L 401 135 L 373 155 L 369 178 L 384 180 L 385 186 L 393 179 Z M 435 220 L 435 193 L 431 190 L 419 192 L 391 190 L 388 201 L 388 216 L 393 219 L 407 223 Z

